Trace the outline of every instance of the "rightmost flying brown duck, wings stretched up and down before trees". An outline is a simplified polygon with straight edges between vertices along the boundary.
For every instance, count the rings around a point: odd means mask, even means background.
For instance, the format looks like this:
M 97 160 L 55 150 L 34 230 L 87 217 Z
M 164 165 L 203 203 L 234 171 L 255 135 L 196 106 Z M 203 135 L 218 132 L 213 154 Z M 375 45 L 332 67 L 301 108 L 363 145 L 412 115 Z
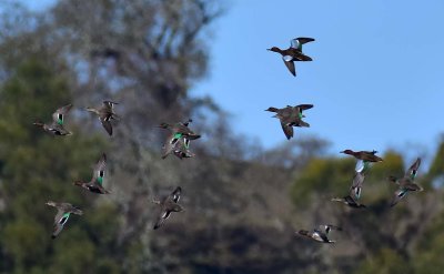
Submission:
M 395 191 L 390 206 L 395 206 L 408 192 L 421 192 L 424 189 L 414 182 L 417 170 L 421 165 L 421 158 L 408 168 L 403 177 L 389 176 L 389 181 L 397 184 L 397 190 Z

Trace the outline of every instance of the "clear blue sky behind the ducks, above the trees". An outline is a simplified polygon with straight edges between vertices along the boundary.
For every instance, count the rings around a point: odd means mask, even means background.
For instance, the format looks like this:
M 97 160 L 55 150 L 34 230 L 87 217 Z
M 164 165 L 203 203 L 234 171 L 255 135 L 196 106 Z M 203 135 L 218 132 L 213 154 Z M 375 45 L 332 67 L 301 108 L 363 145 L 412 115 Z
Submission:
M 54 0 L 23 1 L 42 9 Z M 36 2 L 39 2 L 38 4 Z M 269 106 L 313 103 L 295 138 L 317 135 L 332 152 L 387 148 L 433 150 L 443 132 L 444 1 L 230 1 L 213 26 L 211 95 L 238 132 L 265 148 L 285 142 Z M 278 53 L 296 37 L 314 61 L 293 78 Z

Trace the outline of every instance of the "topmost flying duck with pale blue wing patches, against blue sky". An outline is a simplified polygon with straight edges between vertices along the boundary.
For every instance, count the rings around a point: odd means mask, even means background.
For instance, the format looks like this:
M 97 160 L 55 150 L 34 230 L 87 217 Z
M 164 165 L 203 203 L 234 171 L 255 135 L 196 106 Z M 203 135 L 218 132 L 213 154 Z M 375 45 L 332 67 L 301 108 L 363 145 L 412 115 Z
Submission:
M 290 48 L 287 48 L 286 50 L 281 50 L 278 47 L 273 47 L 268 50 L 280 53 L 290 73 L 292 73 L 293 77 L 295 77 L 296 69 L 294 67 L 294 61 L 313 61 L 311 57 L 307 57 L 304 53 L 302 53 L 302 45 L 313 41 L 314 41 L 313 38 L 300 37 L 291 40 Z

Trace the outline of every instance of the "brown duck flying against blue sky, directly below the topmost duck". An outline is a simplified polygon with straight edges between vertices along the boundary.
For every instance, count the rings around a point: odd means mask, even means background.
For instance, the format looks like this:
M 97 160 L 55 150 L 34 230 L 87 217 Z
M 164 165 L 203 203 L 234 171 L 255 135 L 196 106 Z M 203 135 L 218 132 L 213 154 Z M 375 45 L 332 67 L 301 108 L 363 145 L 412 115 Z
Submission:
M 303 111 L 312 108 L 313 104 L 299 104 L 295 106 L 286 105 L 283 109 L 270 106 L 265 111 L 276 113 L 273 118 L 278 118 L 280 120 L 286 140 L 290 140 L 294 135 L 293 126 L 310 128 L 310 124 L 302 121 L 302 119 L 305 118 Z

